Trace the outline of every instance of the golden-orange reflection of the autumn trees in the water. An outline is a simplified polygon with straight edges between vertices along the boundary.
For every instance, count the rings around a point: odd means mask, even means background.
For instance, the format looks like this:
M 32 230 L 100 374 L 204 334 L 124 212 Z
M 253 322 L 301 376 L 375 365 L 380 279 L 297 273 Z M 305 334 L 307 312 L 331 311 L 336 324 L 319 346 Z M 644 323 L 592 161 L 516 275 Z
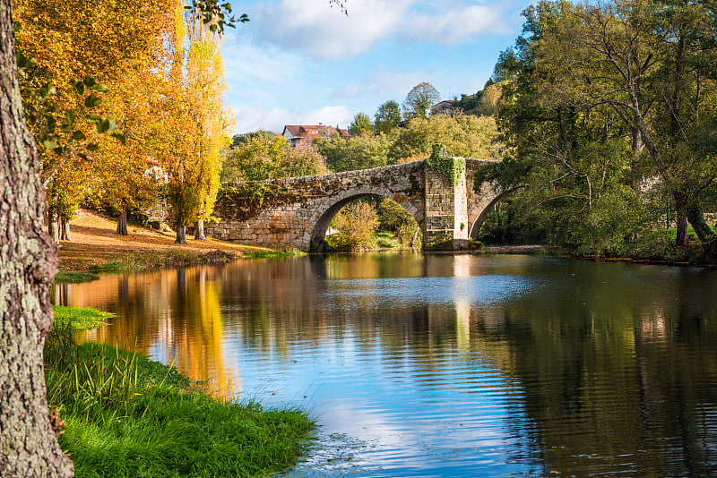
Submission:
M 206 389 L 229 395 L 238 391 L 240 377 L 231 376 L 221 350 L 217 274 L 202 267 L 111 276 L 93 289 L 78 287 L 73 296 L 81 302 L 77 305 L 117 313 L 117 320 L 90 338 L 174 362 Z M 108 285 L 116 294 L 98 293 Z

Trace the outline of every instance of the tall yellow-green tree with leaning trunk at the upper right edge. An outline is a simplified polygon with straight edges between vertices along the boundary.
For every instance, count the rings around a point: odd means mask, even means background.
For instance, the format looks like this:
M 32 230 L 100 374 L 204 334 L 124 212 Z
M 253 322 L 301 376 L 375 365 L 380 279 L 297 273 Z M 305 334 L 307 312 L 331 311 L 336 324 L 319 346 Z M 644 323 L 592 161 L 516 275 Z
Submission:
M 638 177 L 643 170 L 661 178 L 682 219 L 681 236 L 687 218 L 704 257 L 717 260 L 717 235 L 703 214 L 717 175 L 707 140 L 714 87 L 704 81 L 715 65 L 714 11 L 699 2 L 616 0 L 568 4 L 562 18 L 543 47 L 557 84 L 574 85 L 580 110 L 612 108 L 631 132 Z

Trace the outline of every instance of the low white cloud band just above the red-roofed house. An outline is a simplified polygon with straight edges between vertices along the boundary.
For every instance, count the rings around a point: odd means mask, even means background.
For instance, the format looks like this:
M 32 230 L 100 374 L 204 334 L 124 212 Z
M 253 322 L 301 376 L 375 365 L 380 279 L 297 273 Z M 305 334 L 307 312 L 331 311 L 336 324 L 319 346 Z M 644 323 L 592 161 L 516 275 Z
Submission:
M 258 129 L 281 132 L 284 124 L 328 124 L 346 128 L 353 121 L 353 114 L 343 105 L 327 105 L 311 111 L 287 110 L 280 107 L 262 106 L 232 108 L 237 123 L 235 132 L 251 132 Z

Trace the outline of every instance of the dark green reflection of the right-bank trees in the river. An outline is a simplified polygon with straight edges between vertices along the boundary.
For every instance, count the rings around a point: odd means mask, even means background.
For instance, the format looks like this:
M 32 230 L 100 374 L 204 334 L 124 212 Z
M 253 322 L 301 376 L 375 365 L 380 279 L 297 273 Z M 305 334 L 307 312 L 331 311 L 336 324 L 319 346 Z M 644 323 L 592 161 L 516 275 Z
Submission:
M 685 277 L 660 294 L 626 291 L 614 271 L 581 268 L 592 294 L 574 300 L 556 290 L 538 306 L 506 304 L 498 320 L 477 316 L 482 347 L 521 381 L 547 469 L 714 474 L 717 313 L 705 299 L 717 283 Z

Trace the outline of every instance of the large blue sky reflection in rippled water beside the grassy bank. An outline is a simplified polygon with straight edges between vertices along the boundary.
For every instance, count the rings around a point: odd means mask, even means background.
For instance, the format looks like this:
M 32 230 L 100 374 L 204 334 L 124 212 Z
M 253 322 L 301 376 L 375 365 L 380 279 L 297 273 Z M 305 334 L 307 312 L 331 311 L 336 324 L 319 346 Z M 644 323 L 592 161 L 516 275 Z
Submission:
M 244 367 L 246 388 L 261 389 L 257 397 L 276 405 L 308 406 L 321 426 L 315 452 L 288 476 L 527 471 L 506 461 L 508 449 L 518 448 L 506 422 L 515 415 L 508 408 L 520 408 L 521 390 L 474 354 L 452 351 L 431 361 L 420 350 L 367 348 L 357 337 L 320 350 L 291 348 L 282 363 L 243 357 L 254 364 Z

